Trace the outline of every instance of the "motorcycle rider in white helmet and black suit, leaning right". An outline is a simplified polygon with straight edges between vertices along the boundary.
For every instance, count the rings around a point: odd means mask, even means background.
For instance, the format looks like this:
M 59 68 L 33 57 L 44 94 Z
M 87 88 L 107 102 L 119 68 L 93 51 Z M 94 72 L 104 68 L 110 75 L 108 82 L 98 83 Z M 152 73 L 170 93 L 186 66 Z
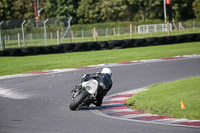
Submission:
M 89 81 L 90 79 L 95 79 L 98 81 L 98 90 L 96 98 L 89 101 L 86 106 L 89 107 L 91 103 L 93 103 L 96 106 L 101 106 L 104 96 L 106 96 L 107 92 L 112 87 L 111 77 L 112 77 L 112 71 L 110 68 L 103 68 L 101 73 L 96 72 L 92 74 L 85 74 L 82 77 L 81 83 Z M 81 89 L 81 84 L 79 86 L 76 86 L 76 88 L 72 90 L 72 92 L 76 91 L 76 89 Z

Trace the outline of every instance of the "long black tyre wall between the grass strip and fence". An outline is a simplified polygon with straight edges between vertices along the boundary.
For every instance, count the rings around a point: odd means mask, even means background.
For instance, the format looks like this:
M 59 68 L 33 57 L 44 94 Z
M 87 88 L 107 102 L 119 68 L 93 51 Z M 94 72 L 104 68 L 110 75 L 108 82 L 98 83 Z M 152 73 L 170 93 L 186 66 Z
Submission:
M 152 37 L 143 39 L 125 39 L 97 42 L 63 43 L 59 45 L 7 48 L 0 51 L 0 56 L 29 56 L 41 54 L 67 53 L 79 51 L 132 48 L 200 41 L 200 33 L 177 36 Z

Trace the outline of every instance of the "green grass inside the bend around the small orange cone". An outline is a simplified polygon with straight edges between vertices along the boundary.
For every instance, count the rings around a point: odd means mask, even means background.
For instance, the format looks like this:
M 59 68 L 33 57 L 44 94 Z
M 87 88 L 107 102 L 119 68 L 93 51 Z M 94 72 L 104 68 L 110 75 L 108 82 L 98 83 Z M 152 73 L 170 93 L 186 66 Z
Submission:
M 156 84 L 147 89 L 129 98 L 126 104 L 152 114 L 200 119 L 200 77 Z M 186 109 L 181 109 L 181 100 Z

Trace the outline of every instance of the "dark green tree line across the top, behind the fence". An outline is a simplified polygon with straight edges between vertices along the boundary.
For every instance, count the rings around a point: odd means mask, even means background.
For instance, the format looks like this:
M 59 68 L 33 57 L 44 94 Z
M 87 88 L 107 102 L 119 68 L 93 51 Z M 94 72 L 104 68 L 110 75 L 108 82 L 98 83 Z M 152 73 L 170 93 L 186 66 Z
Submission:
M 74 24 L 164 19 L 164 0 L 38 0 L 41 18 L 73 17 Z M 200 0 L 170 0 L 169 21 L 200 19 Z M 0 21 L 33 19 L 34 0 L 1 0 Z

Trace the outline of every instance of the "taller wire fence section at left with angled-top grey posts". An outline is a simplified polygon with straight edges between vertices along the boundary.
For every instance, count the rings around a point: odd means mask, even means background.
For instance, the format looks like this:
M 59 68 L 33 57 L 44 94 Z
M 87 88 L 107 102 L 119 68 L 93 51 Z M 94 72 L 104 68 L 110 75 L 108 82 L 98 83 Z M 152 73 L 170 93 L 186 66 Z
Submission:
M 59 44 L 70 26 L 69 21 L 69 18 L 1 21 L 1 49 Z M 69 33 L 65 35 L 66 38 L 67 36 Z

